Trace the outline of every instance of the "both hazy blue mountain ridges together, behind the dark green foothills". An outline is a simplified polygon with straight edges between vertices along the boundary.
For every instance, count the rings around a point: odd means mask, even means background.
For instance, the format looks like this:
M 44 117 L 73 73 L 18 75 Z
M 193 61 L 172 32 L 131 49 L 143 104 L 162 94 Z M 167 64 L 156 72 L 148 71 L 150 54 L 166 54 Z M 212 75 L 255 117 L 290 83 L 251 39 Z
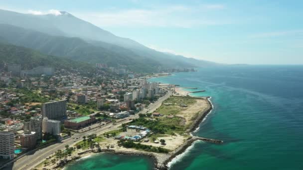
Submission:
M 72 14 L 33 15 L 0 10 L 0 37 L 7 43 L 41 53 L 86 63 L 126 65 L 135 72 L 161 68 L 217 65 L 150 49 L 134 40 L 118 37 Z

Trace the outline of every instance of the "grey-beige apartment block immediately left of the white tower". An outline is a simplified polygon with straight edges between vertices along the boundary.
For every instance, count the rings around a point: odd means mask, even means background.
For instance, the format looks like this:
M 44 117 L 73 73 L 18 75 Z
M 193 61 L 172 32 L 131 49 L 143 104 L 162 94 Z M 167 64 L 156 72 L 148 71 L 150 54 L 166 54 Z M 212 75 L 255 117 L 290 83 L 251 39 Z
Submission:
M 42 116 L 31 117 L 29 121 L 24 121 L 23 130 L 24 132 L 36 132 L 36 138 L 42 139 Z

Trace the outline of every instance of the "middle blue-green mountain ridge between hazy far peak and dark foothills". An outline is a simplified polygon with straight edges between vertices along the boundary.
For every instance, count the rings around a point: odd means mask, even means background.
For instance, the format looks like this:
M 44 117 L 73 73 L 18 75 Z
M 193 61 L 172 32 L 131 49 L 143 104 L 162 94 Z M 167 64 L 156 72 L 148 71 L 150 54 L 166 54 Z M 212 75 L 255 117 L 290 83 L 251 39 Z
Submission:
M 131 50 L 112 44 L 102 43 L 106 46 L 104 48 L 87 43 L 80 38 L 50 36 L 42 32 L 7 24 L 0 24 L 0 36 L 14 45 L 91 64 L 106 63 L 113 67 L 126 65 L 130 70 L 136 72 L 153 72 L 160 65 L 151 59 L 135 54 Z

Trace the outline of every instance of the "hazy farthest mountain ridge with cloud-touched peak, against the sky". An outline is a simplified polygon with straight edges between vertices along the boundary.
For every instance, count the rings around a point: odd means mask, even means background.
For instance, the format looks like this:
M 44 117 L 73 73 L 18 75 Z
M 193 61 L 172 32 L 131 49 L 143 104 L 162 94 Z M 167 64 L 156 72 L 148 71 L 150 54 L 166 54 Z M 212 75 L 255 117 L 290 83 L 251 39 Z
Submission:
M 134 40 L 116 36 L 111 32 L 77 18 L 68 12 L 61 11 L 60 13 L 61 15 L 30 15 L 0 10 L 0 23 L 30 28 L 47 34 L 51 33 L 52 35 L 55 34 L 69 37 L 79 37 L 86 42 L 105 48 L 109 51 L 116 50 L 108 48 L 108 44 L 113 44 L 123 47 L 128 51 L 132 51 L 136 56 L 140 56 L 144 58 L 144 60 L 150 59 L 151 61 L 160 63 L 162 67 L 204 67 L 216 65 L 216 63 L 213 62 L 158 52 Z M 13 21 L 11 21 L 10 18 L 12 18 Z M 139 60 L 139 57 L 135 58 Z M 87 61 L 88 60 L 89 59 L 87 59 Z M 148 65 L 145 66 L 149 67 Z

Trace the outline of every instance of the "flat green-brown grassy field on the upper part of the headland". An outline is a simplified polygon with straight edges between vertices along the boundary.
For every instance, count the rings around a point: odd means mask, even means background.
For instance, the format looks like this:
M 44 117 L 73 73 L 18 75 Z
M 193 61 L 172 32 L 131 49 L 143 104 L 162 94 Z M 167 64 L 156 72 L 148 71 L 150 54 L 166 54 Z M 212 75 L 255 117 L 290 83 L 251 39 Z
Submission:
M 163 115 L 176 115 L 181 111 L 186 110 L 186 107 L 180 107 L 181 104 L 190 106 L 196 103 L 196 100 L 190 96 L 171 96 L 163 101 L 163 103 L 171 103 L 170 105 L 162 104 L 155 112 L 159 112 Z

